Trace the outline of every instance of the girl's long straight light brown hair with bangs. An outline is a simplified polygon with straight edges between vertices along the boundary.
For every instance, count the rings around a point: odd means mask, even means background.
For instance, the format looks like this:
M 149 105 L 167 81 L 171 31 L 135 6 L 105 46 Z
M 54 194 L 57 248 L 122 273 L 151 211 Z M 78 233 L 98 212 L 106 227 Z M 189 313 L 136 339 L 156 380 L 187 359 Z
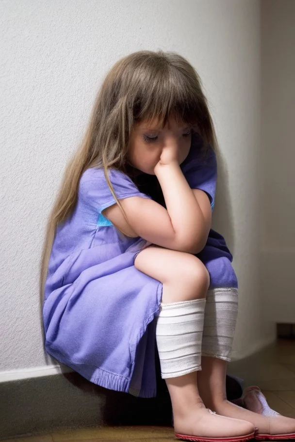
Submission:
M 56 227 L 73 211 L 79 180 L 89 167 L 110 167 L 127 173 L 128 143 L 132 127 L 143 120 L 158 119 L 164 127 L 173 116 L 196 126 L 207 145 L 216 149 L 213 121 L 201 80 L 188 61 L 175 52 L 142 50 L 123 57 L 108 72 L 96 97 L 83 140 L 64 173 L 49 215 L 40 272 L 43 303 L 49 258 Z

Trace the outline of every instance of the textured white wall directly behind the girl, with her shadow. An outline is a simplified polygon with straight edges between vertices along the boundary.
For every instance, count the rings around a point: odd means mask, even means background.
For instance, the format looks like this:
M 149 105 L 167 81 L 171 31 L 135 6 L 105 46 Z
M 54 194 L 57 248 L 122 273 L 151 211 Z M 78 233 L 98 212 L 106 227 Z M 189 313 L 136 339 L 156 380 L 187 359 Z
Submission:
M 39 323 L 46 218 L 106 71 L 140 49 L 177 51 L 203 80 L 224 157 L 214 226 L 234 253 L 240 284 L 234 356 L 273 337 L 258 279 L 259 6 L 258 0 L 0 2 L 0 379 L 54 372 Z

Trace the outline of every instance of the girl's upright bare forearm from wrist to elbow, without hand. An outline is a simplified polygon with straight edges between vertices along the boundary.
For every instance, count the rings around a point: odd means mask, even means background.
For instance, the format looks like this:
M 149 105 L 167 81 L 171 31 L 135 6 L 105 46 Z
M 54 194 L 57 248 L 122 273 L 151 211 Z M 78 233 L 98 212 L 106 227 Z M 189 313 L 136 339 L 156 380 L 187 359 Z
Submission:
M 155 174 L 163 191 L 178 249 L 181 245 L 183 251 L 198 253 L 206 243 L 208 231 L 201 208 L 179 164 L 176 161 L 159 164 Z

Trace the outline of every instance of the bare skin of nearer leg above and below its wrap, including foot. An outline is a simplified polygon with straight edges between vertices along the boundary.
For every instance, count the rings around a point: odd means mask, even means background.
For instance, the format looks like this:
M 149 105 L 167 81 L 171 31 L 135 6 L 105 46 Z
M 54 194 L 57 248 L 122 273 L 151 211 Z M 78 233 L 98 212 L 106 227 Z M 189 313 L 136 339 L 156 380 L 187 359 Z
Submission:
M 204 299 L 209 275 L 198 258 L 150 246 L 135 259 L 135 267 L 163 283 L 165 303 Z M 227 438 L 248 435 L 254 431 L 249 422 L 211 414 L 200 398 L 194 371 L 184 376 L 165 379 L 171 398 L 175 432 L 199 437 Z

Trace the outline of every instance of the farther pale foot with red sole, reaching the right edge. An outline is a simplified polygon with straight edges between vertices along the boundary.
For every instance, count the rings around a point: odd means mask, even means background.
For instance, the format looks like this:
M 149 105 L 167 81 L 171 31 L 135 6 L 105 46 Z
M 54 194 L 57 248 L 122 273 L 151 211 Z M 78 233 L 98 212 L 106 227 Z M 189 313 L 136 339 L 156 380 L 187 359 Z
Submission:
M 227 400 L 215 404 L 212 408 L 221 416 L 251 422 L 258 428 L 255 434 L 256 439 L 295 439 L 295 419 L 282 416 L 271 409 L 269 409 L 272 411 L 271 413 L 262 415 L 260 414 L 262 410 L 259 410 L 259 407 L 257 407 L 257 412 L 254 412 Z

